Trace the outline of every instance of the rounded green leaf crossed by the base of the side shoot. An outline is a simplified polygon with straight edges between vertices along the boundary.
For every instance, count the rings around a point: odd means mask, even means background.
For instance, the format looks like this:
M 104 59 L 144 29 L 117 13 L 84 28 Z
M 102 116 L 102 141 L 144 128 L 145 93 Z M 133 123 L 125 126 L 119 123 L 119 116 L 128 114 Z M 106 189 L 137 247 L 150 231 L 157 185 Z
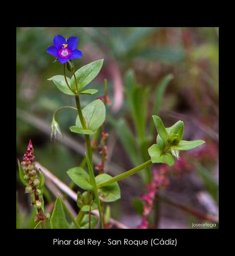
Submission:
M 110 175 L 100 174 L 96 176 L 96 183 L 99 185 L 99 183 L 103 183 L 110 179 L 112 179 Z M 108 186 L 100 187 L 98 188 L 98 191 L 100 199 L 104 202 L 114 202 L 121 198 L 121 191 L 117 182 L 114 182 Z

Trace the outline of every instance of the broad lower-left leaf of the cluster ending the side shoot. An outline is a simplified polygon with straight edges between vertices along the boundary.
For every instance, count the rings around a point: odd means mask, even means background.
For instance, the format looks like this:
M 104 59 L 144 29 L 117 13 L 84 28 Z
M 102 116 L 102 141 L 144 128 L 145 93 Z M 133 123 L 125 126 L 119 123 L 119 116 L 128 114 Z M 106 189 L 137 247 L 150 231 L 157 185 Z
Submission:
M 166 163 L 169 166 L 172 166 L 175 163 L 172 154 L 169 152 L 163 153 L 162 148 L 157 144 L 153 144 L 149 147 L 148 152 L 153 163 Z

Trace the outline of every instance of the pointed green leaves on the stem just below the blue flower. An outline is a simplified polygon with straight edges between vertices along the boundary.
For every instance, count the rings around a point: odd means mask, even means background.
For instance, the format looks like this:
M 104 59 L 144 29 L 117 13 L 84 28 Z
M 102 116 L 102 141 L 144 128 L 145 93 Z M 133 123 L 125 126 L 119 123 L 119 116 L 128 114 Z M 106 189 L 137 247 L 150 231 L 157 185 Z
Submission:
M 78 94 L 95 94 L 98 92 L 97 89 L 88 89 L 88 90 L 82 90 L 82 89 L 85 86 L 87 86 L 87 84 L 90 83 L 99 74 L 103 66 L 103 61 L 104 59 L 93 61 L 83 66 L 82 68 L 80 68 L 75 72 L 76 80 L 78 83 Z M 72 76 L 71 79 L 66 77 L 66 79 L 70 88 L 72 88 L 73 91 L 76 91 L 77 87 L 76 87 L 76 81 L 74 76 Z M 75 93 L 68 88 L 64 76 L 57 75 L 49 78 L 48 80 L 53 81 L 56 87 L 61 92 L 67 95 L 75 95 Z

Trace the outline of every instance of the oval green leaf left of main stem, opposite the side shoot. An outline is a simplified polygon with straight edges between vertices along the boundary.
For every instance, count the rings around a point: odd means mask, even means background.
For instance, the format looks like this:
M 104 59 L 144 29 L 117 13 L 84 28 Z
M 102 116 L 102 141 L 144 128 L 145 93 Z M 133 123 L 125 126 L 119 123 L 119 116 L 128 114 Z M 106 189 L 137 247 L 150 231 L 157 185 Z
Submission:
M 74 167 L 67 171 L 73 182 L 84 190 L 92 190 L 88 173 L 82 167 Z

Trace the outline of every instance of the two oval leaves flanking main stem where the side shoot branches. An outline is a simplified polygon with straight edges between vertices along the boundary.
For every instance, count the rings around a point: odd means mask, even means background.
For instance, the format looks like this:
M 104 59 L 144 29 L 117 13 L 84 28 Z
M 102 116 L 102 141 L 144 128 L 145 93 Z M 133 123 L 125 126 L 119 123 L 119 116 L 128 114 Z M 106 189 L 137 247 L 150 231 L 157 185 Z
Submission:
M 81 167 L 74 167 L 67 171 L 68 176 L 73 182 L 84 190 L 93 190 L 93 186 L 90 183 L 88 173 Z M 105 181 L 112 179 L 108 174 L 100 174 L 96 176 L 96 183 L 99 185 Z M 121 198 L 120 187 L 117 182 L 111 185 L 98 188 L 100 200 L 104 202 L 114 202 Z

